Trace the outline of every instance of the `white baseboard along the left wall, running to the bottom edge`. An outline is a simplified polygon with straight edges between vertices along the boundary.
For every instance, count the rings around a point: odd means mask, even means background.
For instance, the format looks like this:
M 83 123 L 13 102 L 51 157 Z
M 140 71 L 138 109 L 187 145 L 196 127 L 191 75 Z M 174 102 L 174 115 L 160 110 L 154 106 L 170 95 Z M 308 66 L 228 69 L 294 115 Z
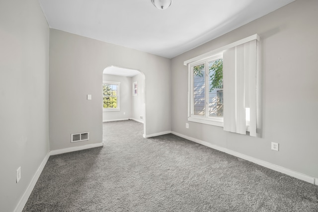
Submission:
M 28 186 L 27 189 L 25 190 L 25 192 L 24 192 L 24 194 L 23 194 L 21 200 L 19 201 L 18 205 L 16 206 L 14 212 L 22 212 L 22 210 L 23 210 L 23 208 L 24 208 L 26 202 L 28 201 L 28 199 L 29 199 L 29 197 L 30 197 L 30 195 L 31 195 L 31 193 L 32 193 L 32 190 L 33 190 L 33 188 L 34 188 L 36 182 L 38 181 L 38 179 L 39 179 L 39 177 L 40 177 L 40 175 L 41 175 L 41 173 L 42 173 L 42 170 L 43 170 L 43 168 L 44 168 L 46 162 L 47 162 L 48 159 L 49 159 L 49 157 L 50 157 L 50 152 L 48 152 L 48 153 L 45 155 L 45 157 L 44 157 L 44 159 L 42 160 L 42 162 L 41 162 L 39 168 L 36 170 L 34 176 L 32 177 L 32 180 L 31 180 L 29 186 Z

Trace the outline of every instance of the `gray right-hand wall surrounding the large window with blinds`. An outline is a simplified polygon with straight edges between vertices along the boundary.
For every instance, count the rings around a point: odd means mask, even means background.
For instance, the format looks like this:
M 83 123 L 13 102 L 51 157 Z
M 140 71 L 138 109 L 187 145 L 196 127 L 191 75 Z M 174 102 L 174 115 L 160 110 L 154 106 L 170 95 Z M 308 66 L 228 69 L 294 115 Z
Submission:
M 171 130 L 318 177 L 318 1 L 297 0 L 172 59 Z M 259 34 L 261 138 L 187 121 L 188 68 L 183 62 Z M 271 141 L 279 151 L 271 150 Z

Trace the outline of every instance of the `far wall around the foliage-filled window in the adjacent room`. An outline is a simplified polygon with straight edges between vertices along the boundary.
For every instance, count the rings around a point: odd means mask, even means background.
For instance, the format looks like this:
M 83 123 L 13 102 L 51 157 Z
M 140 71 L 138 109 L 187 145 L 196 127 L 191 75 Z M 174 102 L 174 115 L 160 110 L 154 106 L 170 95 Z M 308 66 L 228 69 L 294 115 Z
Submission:
M 103 121 L 129 119 L 131 117 L 133 92 L 131 78 L 129 76 L 103 74 L 104 81 L 120 82 L 120 111 L 103 111 Z

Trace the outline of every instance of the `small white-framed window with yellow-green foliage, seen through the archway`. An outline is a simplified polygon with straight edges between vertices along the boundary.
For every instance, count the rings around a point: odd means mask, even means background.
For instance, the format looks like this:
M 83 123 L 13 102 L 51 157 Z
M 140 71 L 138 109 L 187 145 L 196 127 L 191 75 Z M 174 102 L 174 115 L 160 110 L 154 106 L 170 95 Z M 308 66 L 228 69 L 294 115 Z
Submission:
M 120 82 L 103 81 L 103 110 L 120 111 Z

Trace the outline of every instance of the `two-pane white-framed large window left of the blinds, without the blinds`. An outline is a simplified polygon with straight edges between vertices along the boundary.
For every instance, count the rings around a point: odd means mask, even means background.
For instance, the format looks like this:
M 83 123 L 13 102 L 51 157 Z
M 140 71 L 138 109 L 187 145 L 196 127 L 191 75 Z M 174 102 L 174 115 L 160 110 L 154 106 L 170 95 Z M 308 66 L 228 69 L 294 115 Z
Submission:
M 189 65 L 189 120 L 223 126 L 223 55 L 216 54 Z

